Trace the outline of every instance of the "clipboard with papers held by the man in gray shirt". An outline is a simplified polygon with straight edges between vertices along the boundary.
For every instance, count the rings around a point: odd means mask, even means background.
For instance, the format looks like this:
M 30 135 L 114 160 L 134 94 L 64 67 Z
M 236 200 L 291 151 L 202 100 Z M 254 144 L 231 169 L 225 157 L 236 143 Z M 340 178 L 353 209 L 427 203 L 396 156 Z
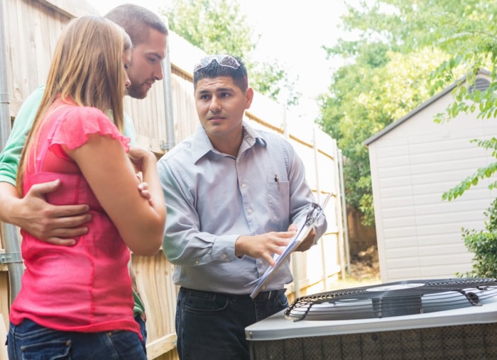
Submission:
M 258 295 L 258 293 L 260 293 L 261 290 L 263 290 L 264 286 L 269 281 L 269 279 L 271 279 L 271 276 L 273 276 L 275 271 L 278 271 L 280 266 L 286 261 L 286 259 L 288 259 L 288 257 L 290 257 L 290 254 L 292 254 L 292 252 L 298 247 L 300 242 L 302 242 L 302 240 L 304 240 L 305 237 L 309 235 L 310 231 L 312 230 L 312 227 L 314 227 L 317 219 L 320 218 L 320 216 L 322 215 L 324 207 L 327 205 L 331 197 L 332 194 L 329 193 L 326 196 L 326 198 L 324 198 L 324 201 L 322 202 L 321 205 L 317 203 L 312 203 L 312 208 L 309 210 L 309 213 L 307 213 L 305 219 L 302 220 L 302 223 L 297 224 L 297 227 L 299 229 L 297 231 L 297 234 L 295 234 L 292 240 L 290 240 L 288 245 L 285 247 L 285 250 L 283 250 L 283 252 L 280 255 L 274 254 L 273 259 L 275 259 L 276 261 L 275 265 L 270 266 L 263 274 L 263 276 L 261 276 L 259 279 L 249 283 L 249 285 L 256 283 L 256 288 L 254 288 L 252 293 L 250 294 L 251 298 L 255 298 Z

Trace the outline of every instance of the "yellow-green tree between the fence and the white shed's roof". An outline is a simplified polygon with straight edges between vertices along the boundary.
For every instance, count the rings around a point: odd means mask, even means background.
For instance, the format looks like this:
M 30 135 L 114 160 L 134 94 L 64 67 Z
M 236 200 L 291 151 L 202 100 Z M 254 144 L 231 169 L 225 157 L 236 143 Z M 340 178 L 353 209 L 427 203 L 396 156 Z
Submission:
M 364 21 L 350 19 L 364 26 Z M 380 40 L 378 33 L 371 38 L 342 41 L 327 49 L 329 57 L 347 57 L 351 64 L 334 74 L 328 94 L 320 97 L 317 120 L 337 139 L 346 157 L 347 203 L 361 210 L 364 225 L 374 224 L 374 210 L 368 149 L 363 142 L 430 97 L 427 79 L 444 59 L 444 53 L 434 47 L 407 51 L 396 39 L 386 42 L 388 36 Z

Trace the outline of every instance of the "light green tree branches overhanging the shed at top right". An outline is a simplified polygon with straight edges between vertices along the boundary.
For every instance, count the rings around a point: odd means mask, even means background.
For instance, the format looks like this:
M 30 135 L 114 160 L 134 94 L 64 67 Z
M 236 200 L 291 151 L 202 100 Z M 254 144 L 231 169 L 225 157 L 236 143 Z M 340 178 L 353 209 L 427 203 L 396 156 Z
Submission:
M 381 11 L 383 9 L 383 11 Z M 385 14 L 388 9 L 388 15 Z M 447 121 L 459 113 L 476 113 L 477 118 L 497 117 L 496 56 L 497 26 L 495 16 L 497 3 L 491 0 L 386 0 L 375 1 L 366 15 L 353 10 L 349 16 L 349 28 L 361 28 L 364 33 L 387 39 L 400 51 L 416 51 L 423 47 L 437 47 L 445 57 L 430 73 L 430 96 L 449 83 L 464 76 L 464 82 L 454 89 L 454 102 L 444 113 L 437 114 L 435 121 Z M 364 24 L 367 24 L 366 28 Z M 491 84 L 485 91 L 469 92 L 476 74 L 486 69 Z M 495 140 L 474 140 L 479 146 L 493 150 Z M 451 200 L 464 191 L 495 174 L 497 164 L 476 169 L 453 189 L 442 195 Z M 493 189 L 496 183 L 490 185 Z

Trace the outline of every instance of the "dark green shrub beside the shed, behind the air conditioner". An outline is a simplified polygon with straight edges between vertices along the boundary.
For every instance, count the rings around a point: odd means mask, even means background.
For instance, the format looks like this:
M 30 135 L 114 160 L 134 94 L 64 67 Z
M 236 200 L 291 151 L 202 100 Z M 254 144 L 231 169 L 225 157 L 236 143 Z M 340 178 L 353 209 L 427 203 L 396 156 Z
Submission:
M 497 199 L 484 214 L 489 217 L 485 223 L 486 231 L 463 229 L 464 244 L 474 257 L 471 271 L 461 276 L 497 277 Z

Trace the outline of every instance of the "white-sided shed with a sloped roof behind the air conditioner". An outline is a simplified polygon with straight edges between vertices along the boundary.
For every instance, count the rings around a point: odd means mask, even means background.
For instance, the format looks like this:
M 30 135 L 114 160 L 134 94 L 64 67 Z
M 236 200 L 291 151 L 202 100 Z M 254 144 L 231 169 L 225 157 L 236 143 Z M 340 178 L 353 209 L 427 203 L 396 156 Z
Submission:
M 476 86 L 487 86 L 479 74 Z M 442 193 L 494 162 L 472 139 L 497 134 L 495 118 L 460 113 L 435 123 L 453 101 L 447 87 L 364 143 L 368 146 L 381 281 L 452 278 L 471 269 L 461 228 L 484 229 L 493 198 L 489 181 L 452 200 Z M 493 180 L 494 181 L 494 180 Z

